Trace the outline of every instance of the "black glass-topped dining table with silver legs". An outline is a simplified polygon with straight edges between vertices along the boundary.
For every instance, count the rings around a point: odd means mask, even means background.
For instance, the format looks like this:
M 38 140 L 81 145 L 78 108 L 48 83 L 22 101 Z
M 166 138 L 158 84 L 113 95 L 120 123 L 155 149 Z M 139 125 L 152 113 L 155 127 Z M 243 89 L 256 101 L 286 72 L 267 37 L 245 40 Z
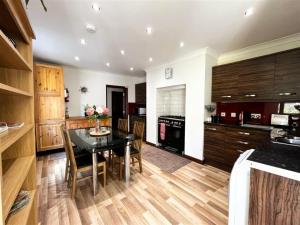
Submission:
M 93 128 L 92 128 L 93 129 Z M 71 141 L 79 150 L 87 151 L 93 158 L 93 192 L 94 196 L 98 192 L 98 172 L 97 154 L 111 150 L 116 147 L 125 149 L 125 182 L 128 184 L 130 179 L 130 147 L 132 141 L 137 137 L 133 134 L 122 132 L 111 127 L 101 127 L 104 132 L 109 133 L 101 136 L 92 136 L 90 128 L 69 130 Z

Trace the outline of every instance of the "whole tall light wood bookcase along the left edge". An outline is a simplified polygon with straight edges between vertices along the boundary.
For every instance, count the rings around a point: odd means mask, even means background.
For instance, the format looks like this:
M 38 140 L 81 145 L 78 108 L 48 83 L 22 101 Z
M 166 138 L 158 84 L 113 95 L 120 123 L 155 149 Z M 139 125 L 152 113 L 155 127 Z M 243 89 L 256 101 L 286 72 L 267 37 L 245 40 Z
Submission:
M 8 37 L 15 41 L 16 46 Z M 24 126 L 0 134 L 0 225 L 37 224 L 34 38 L 21 0 L 1 0 L 0 121 L 24 122 Z M 29 204 L 9 216 L 21 190 L 30 192 Z

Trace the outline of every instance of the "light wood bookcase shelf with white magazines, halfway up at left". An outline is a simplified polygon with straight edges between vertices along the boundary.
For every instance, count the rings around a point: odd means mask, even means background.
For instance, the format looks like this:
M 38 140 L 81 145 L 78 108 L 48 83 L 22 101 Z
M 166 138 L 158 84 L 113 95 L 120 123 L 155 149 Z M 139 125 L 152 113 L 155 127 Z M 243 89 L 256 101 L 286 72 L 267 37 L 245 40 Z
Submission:
M 8 129 L 0 134 L 0 153 L 4 152 L 12 144 L 23 137 L 29 130 L 33 128 L 33 124 L 24 125 L 21 128 Z

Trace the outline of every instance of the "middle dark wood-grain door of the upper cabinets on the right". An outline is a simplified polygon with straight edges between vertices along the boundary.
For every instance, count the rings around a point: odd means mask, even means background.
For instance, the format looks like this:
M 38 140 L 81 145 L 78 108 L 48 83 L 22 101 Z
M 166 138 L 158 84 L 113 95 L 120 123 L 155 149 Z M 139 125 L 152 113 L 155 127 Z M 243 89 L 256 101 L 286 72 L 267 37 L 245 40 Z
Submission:
M 238 93 L 240 101 L 273 99 L 275 56 L 264 56 L 239 63 Z

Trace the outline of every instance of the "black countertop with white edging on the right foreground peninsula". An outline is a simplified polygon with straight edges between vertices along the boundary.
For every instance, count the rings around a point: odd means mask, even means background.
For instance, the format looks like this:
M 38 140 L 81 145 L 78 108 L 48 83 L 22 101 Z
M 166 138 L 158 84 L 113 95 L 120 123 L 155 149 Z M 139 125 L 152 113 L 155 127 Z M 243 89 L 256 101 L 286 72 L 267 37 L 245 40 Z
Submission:
M 248 160 L 300 173 L 300 147 L 270 142 L 258 146 Z

